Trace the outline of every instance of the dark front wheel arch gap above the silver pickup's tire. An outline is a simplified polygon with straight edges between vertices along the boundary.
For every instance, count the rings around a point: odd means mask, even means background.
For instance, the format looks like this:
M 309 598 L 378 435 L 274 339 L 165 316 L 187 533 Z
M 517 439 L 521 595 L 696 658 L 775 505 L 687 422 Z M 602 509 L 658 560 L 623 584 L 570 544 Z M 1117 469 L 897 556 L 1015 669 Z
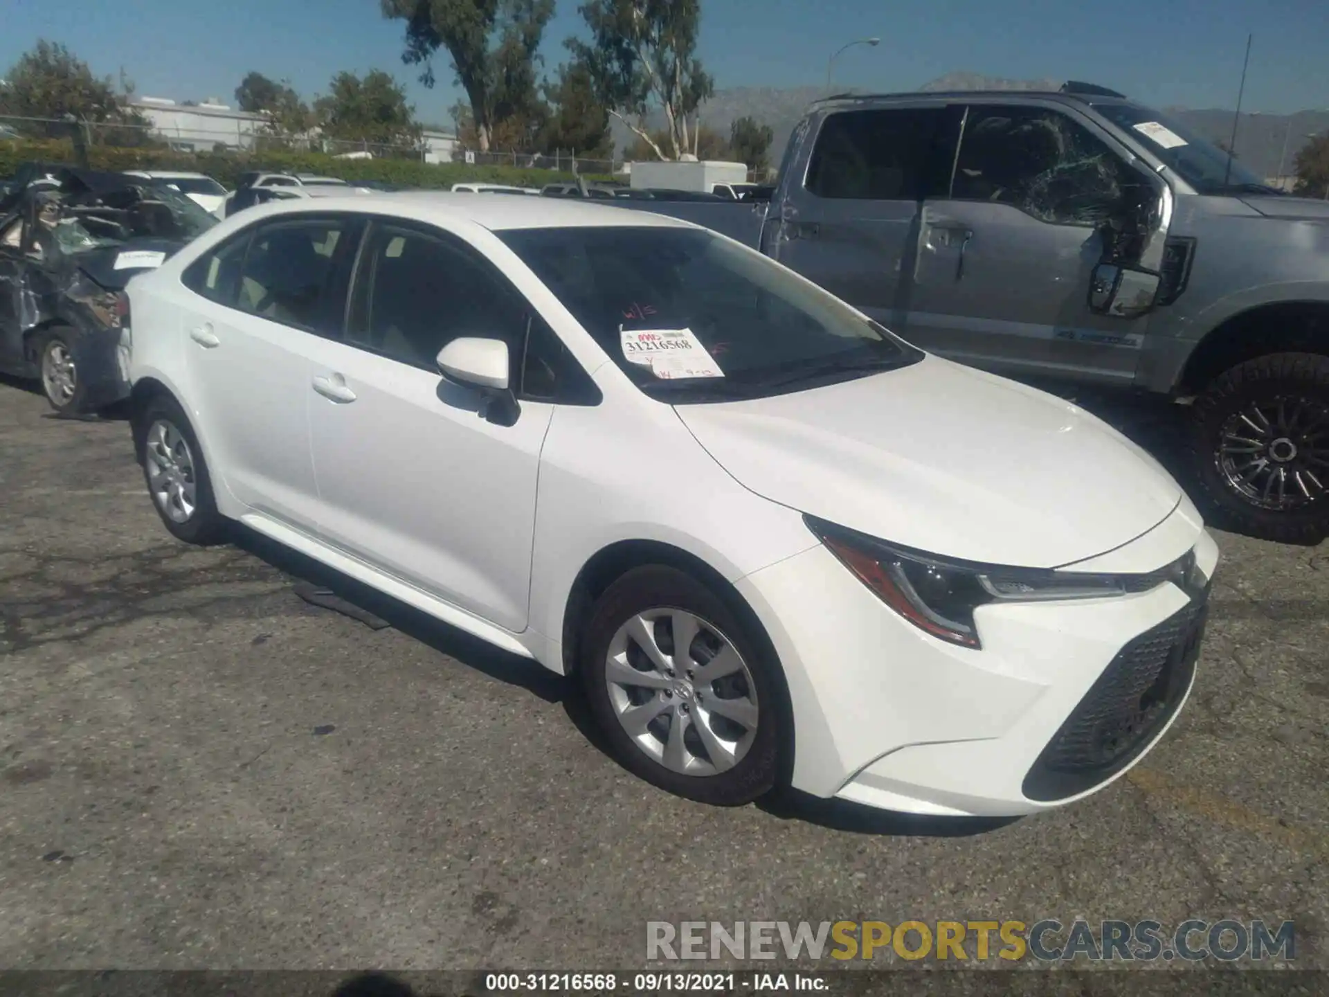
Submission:
M 1284 352 L 1329 356 L 1329 300 L 1271 302 L 1229 315 L 1187 358 L 1177 391 L 1197 395 L 1240 363 Z

